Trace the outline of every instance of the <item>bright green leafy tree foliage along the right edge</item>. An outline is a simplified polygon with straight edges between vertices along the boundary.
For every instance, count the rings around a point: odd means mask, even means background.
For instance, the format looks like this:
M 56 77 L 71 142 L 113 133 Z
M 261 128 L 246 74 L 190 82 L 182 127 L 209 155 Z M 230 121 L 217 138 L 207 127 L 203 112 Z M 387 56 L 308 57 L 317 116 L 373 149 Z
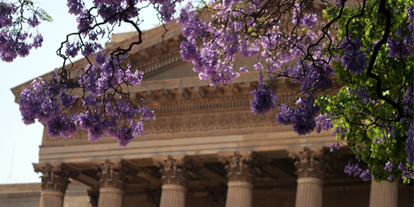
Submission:
M 349 34 L 352 38 L 362 41 L 361 51 L 366 52 L 366 61 L 371 61 L 373 56 L 374 43 L 382 39 L 385 28 L 385 16 L 378 12 L 380 0 L 366 1 L 366 8 L 362 17 L 354 17 L 361 14 L 362 7 L 344 8 L 342 18 L 337 21 L 336 34 L 342 39 Z M 400 40 L 407 34 L 408 18 L 407 8 L 413 5 L 411 0 L 388 0 L 386 8 L 391 12 L 391 33 L 390 37 Z M 324 10 L 324 16 L 332 20 L 339 14 L 339 6 L 328 6 Z M 348 23 L 348 19 L 351 19 Z M 396 34 L 397 30 L 402 35 Z M 339 45 L 339 43 L 338 43 Z M 388 57 L 389 49 L 383 45 L 375 59 L 372 72 L 381 79 L 381 92 L 391 100 L 401 100 L 407 90 L 408 84 L 413 86 L 413 57 L 406 59 Z M 343 50 L 339 52 L 339 60 L 333 63 L 337 80 L 342 88 L 335 95 L 322 95 L 317 99 L 319 106 L 322 106 L 322 113 L 332 112 L 337 117 L 334 130 L 338 130 L 337 139 L 346 140 L 347 145 L 366 162 L 371 168 L 371 173 L 377 181 L 387 179 L 391 173 L 393 177 L 401 176 L 401 171 L 384 170 L 387 161 L 394 164 L 393 169 L 402 162 L 404 166 L 413 167 L 406 161 L 408 152 L 406 146 L 406 131 L 412 123 L 406 121 L 386 121 L 393 119 L 398 114 L 396 108 L 391 104 L 380 100 L 376 94 L 377 81 L 367 77 L 366 71 L 361 75 L 354 75 L 342 66 L 340 58 L 344 55 Z M 355 91 L 366 91 L 372 101 L 364 101 L 355 95 Z M 413 94 L 411 93 L 411 96 Z M 372 103 L 371 103 L 372 102 Z M 381 119 L 382 117 L 384 119 Z M 386 133 L 386 130 L 393 129 L 393 133 Z M 345 132 L 348 130 L 348 132 Z M 343 133 L 341 133 L 341 131 Z M 382 144 L 381 144 L 382 142 Z M 407 179 L 405 181 L 408 181 Z

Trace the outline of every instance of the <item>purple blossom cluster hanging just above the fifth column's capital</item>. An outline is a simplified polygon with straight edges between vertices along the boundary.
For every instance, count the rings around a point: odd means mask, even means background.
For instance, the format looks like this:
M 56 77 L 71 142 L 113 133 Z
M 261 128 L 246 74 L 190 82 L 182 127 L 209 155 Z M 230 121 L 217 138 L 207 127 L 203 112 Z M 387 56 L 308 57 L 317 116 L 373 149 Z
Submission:
M 276 116 L 280 125 L 293 125 L 293 130 L 298 135 L 306 135 L 313 132 L 316 127 L 315 117 L 321 108 L 315 104 L 313 97 L 306 97 L 300 101 L 297 108 L 289 108 L 284 103 L 279 105 L 281 112 Z

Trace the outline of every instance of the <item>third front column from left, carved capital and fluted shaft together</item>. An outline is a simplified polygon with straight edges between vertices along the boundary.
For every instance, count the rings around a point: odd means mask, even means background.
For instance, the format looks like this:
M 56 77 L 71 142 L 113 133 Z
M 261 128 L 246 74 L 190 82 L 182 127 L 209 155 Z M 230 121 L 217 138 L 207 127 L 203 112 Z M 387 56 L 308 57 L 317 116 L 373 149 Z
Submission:
M 172 159 L 155 159 L 154 164 L 161 168 L 161 201 L 159 207 L 184 207 L 186 205 L 186 192 L 190 172 L 190 164 L 186 157 Z

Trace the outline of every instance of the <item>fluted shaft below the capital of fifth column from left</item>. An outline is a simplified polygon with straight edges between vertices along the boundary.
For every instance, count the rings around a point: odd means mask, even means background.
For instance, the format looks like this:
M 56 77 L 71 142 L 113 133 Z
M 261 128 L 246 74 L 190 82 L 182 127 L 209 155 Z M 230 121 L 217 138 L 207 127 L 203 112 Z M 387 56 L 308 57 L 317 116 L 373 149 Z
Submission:
M 322 207 L 324 181 L 314 177 L 297 179 L 295 207 Z

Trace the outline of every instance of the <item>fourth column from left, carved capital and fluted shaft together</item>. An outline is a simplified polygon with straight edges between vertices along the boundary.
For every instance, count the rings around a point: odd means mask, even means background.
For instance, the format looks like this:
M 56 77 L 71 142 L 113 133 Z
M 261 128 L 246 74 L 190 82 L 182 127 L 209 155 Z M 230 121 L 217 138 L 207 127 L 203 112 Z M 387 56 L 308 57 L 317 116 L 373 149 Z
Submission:
M 224 162 L 228 178 L 226 207 L 251 207 L 253 205 L 253 178 L 258 172 L 253 168 L 251 152 L 233 156 L 220 155 L 219 161 Z

